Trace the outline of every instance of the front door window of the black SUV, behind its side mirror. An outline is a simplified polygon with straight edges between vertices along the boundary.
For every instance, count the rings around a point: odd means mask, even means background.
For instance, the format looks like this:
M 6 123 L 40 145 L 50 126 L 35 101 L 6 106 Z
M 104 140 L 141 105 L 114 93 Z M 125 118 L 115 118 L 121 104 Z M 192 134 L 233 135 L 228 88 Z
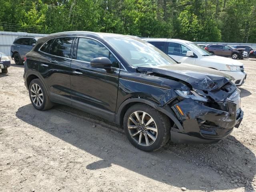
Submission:
M 92 39 L 80 38 L 76 59 L 90 62 L 97 57 L 107 57 L 112 62 L 112 67 L 119 68 L 118 61 L 104 45 Z

